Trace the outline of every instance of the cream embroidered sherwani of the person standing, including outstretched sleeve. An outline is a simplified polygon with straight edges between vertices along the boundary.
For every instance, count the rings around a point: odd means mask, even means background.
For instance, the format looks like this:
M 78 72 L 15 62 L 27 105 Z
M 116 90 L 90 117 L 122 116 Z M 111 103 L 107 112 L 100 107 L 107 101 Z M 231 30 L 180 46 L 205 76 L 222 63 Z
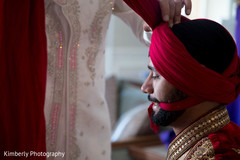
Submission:
M 47 151 L 65 152 L 67 160 L 110 160 L 105 36 L 112 13 L 137 37 L 142 20 L 122 0 L 45 0 L 45 8 Z

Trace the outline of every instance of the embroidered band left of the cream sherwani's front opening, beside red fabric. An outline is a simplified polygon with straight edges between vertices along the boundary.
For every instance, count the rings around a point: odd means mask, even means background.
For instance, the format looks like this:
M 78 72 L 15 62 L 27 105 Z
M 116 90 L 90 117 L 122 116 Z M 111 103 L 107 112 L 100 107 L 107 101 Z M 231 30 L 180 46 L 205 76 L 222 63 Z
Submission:
M 53 5 L 50 5 L 49 7 L 48 11 L 51 12 L 51 10 L 53 10 Z M 61 30 L 60 21 L 55 14 L 46 13 L 46 24 L 46 33 L 48 38 L 47 76 L 48 81 L 53 83 L 53 88 L 48 88 L 51 91 L 51 96 L 53 97 L 52 103 L 50 103 L 50 106 L 45 106 L 50 108 L 50 115 L 47 115 L 50 116 L 50 118 L 49 122 L 46 124 L 46 138 L 48 142 L 47 150 L 55 151 L 55 142 L 58 136 L 57 130 L 64 89 L 64 70 L 62 68 L 64 67 L 64 64 L 61 62 L 65 58 L 64 54 L 62 54 L 63 49 L 65 49 L 65 37 Z

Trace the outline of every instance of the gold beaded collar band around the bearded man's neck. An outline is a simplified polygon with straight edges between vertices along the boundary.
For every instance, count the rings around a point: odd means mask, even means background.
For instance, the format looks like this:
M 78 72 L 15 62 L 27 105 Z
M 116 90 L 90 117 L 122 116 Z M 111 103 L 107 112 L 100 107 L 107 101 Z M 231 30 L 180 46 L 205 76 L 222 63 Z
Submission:
M 179 133 L 168 147 L 167 160 L 177 160 L 194 144 L 210 133 L 223 128 L 230 122 L 226 106 L 219 107 L 213 112 L 197 120 Z

